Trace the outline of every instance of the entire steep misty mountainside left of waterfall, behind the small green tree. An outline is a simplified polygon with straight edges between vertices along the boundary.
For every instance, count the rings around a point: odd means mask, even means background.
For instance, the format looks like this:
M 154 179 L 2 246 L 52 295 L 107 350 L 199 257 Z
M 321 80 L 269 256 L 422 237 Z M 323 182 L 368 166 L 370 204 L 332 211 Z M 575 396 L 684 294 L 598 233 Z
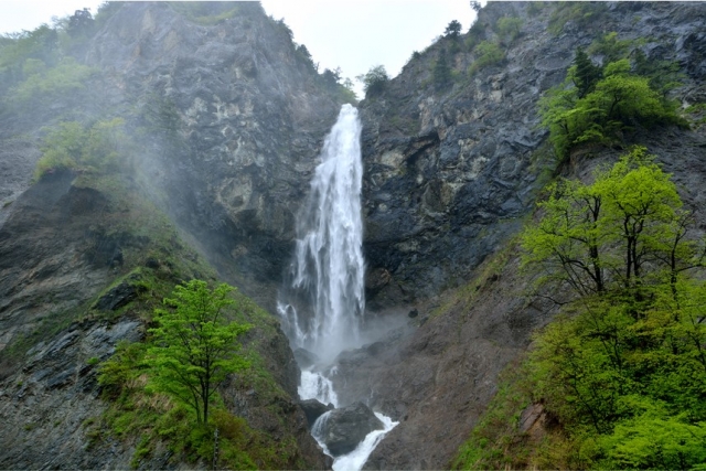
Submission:
M 120 341 L 146 338 L 153 308 L 176 283 L 215 282 L 208 263 L 221 280 L 274 302 L 297 195 L 342 100 L 257 3 L 128 2 L 103 12 L 81 34 L 42 30 L 3 43 L 21 61 L 0 67 L 9 84 L 0 107 L 9 143 L 3 467 L 204 465 L 170 450 L 170 439 L 139 441 L 136 433 L 153 433 L 139 420 L 124 415 L 118 427 L 106 416 L 125 410 L 101 395 L 97 365 Z M 253 368 L 221 392 L 246 418 L 249 428 L 238 430 L 248 459 L 325 468 L 297 405 L 287 339 L 276 318 L 250 313 Z

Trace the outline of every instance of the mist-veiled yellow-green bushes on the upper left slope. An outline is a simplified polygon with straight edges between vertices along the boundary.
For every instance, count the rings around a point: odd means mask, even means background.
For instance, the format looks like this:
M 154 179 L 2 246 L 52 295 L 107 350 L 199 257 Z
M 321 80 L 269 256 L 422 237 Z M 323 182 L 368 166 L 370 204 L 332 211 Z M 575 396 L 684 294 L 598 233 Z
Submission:
M 42 158 L 34 169 L 34 179 L 58 169 L 115 171 L 119 148 L 126 140 L 124 122 L 122 118 L 114 118 L 90 128 L 76 121 L 61 122 L 42 142 Z

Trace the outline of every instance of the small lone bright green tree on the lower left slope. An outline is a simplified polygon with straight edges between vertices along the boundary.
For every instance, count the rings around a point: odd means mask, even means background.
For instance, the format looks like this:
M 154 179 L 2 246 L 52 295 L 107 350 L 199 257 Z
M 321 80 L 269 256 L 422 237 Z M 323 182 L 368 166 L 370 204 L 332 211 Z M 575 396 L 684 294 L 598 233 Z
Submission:
M 192 407 L 199 424 L 208 422 L 208 405 L 228 374 L 248 366 L 237 355 L 236 339 L 250 325 L 226 319 L 235 307 L 233 290 L 227 285 L 211 290 L 202 280 L 176 286 L 174 298 L 164 299 L 171 309 L 154 310 L 158 327 L 149 330 L 152 387 Z

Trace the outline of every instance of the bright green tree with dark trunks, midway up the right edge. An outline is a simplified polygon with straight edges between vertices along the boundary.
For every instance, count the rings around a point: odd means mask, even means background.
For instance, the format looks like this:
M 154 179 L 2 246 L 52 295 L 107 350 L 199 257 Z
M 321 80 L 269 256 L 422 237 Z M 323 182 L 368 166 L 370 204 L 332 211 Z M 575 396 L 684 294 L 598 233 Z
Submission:
M 599 170 L 585 185 L 561 181 L 536 226 L 523 235 L 525 266 L 538 266 L 542 281 L 566 282 L 576 295 L 602 293 L 661 281 L 678 259 L 691 259 L 684 240 L 688 215 L 667 173 L 634 148 L 610 170 Z

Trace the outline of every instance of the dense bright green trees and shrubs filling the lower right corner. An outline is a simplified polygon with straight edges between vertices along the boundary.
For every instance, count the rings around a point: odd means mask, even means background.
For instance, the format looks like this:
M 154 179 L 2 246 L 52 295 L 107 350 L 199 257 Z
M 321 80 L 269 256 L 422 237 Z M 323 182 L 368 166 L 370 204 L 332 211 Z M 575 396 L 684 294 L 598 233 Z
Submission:
M 539 292 L 573 295 L 553 296 L 561 315 L 456 465 L 703 467 L 706 251 L 670 175 L 635 148 L 591 184 L 552 185 L 539 212 L 523 235 L 526 267 L 545 274 Z M 542 405 L 541 440 L 520 428 L 528 404 Z

